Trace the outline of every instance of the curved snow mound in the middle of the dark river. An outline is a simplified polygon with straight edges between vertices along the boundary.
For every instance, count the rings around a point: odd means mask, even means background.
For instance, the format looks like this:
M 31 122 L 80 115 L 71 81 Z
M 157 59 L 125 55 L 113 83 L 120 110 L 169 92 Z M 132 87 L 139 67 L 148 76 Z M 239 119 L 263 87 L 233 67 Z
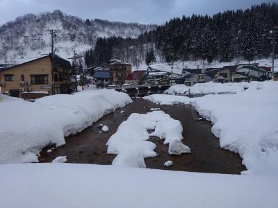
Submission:
M 167 126 L 165 128 L 165 126 Z M 181 123 L 170 118 L 162 111 L 153 111 L 147 114 L 133 113 L 122 122 L 114 135 L 108 140 L 108 154 L 115 154 L 117 157 L 112 164 L 115 166 L 129 166 L 145 168 L 145 157 L 154 157 L 156 145 L 150 141 L 147 130 L 154 130 L 151 136 L 165 139 L 164 144 L 169 144 L 169 153 L 186 153 L 181 132 Z M 172 146 L 172 144 L 179 145 Z M 171 148 L 170 148 L 171 147 Z M 189 149 L 189 148 L 188 148 Z

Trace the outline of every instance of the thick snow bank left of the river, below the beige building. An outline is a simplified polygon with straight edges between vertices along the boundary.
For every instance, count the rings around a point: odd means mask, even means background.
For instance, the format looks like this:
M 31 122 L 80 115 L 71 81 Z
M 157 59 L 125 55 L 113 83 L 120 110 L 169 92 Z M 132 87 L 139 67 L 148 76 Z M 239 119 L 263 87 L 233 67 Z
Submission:
M 0 103 L 0 163 L 38 162 L 44 146 L 62 146 L 67 135 L 131 102 L 127 94 L 101 89 Z

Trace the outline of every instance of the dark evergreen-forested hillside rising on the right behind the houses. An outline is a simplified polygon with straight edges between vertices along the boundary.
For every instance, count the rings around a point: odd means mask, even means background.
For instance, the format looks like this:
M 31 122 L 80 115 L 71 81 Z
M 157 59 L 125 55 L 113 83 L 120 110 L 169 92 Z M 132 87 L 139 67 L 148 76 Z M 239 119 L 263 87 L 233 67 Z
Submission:
M 85 60 L 88 65 L 94 65 L 117 58 L 138 66 L 145 62 L 147 50 L 154 49 L 156 59 L 161 62 L 250 61 L 270 55 L 277 26 L 277 3 L 263 3 L 247 10 L 228 10 L 212 17 L 183 16 L 171 19 L 136 39 L 99 38 L 95 50 L 88 51 Z M 277 54 L 277 48 L 275 52 Z

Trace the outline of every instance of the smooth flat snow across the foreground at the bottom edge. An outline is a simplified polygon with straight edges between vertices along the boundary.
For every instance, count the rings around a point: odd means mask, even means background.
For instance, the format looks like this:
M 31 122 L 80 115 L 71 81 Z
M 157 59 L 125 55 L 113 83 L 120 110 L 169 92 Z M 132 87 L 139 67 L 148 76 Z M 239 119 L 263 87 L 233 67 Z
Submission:
M 268 207 L 273 175 L 225 175 L 91 164 L 0 165 L 0 207 Z M 23 190 L 22 190 L 23 189 Z

